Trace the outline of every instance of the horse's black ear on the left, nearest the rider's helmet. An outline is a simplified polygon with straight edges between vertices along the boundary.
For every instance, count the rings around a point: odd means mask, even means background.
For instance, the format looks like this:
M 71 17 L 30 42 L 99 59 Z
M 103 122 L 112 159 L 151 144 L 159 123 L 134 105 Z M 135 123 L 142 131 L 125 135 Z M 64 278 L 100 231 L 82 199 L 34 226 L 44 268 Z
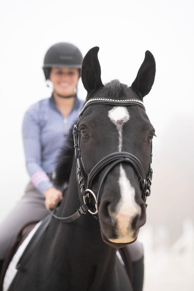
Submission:
M 88 93 L 96 91 L 103 86 L 98 51 L 99 47 L 92 47 L 83 58 L 81 66 L 82 83 Z

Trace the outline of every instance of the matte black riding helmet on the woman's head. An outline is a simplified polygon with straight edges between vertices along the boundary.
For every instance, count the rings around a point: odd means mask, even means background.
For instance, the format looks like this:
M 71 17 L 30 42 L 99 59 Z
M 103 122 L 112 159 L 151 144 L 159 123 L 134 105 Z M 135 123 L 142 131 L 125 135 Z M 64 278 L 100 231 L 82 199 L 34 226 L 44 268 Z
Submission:
M 52 67 L 77 68 L 81 70 L 82 59 L 80 50 L 71 43 L 60 42 L 52 45 L 45 55 L 42 67 L 46 80 L 49 78 Z

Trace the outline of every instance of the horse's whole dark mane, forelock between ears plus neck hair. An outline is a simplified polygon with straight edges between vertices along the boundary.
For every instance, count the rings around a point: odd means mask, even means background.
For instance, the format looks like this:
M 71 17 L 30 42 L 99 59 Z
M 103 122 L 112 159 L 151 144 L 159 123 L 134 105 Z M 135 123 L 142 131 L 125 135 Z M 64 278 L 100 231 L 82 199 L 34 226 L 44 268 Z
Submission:
M 102 93 L 107 98 L 122 100 L 124 97 L 129 95 L 127 91 L 128 86 L 121 84 L 119 80 L 115 79 L 104 85 Z M 74 141 L 73 141 L 73 127 L 70 129 L 67 136 L 67 142 L 61 149 L 61 152 L 57 159 L 56 165 L 56 178 L 54 184 L 56 187 L 61 187 L 65 182 L 69 182 L 73 157 L 74 157 Z

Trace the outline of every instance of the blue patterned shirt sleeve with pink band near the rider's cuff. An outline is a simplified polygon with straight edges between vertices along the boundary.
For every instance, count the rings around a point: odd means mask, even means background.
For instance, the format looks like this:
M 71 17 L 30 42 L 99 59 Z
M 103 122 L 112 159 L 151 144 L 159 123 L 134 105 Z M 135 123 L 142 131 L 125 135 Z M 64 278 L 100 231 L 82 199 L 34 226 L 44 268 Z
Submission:
M 22 124 L 26 168 L 32 184 L 43 194 L 47 189 L 53 187 L 53 184 L 41 167 L 40 132 L 38 120 L 29 111 L 26 111 Z

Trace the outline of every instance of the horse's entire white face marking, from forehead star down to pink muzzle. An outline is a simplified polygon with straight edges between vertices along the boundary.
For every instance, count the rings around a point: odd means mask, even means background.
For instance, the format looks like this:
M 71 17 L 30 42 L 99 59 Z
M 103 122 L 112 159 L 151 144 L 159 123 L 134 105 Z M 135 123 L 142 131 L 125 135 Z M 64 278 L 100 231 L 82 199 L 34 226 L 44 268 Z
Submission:
M 129 113 L 126 107 L 113 107 L 108 112 L 108 116 L 111 121 L 116 125 L 119 134 L 118 150 L 122 150 L 122 133 L 123 125 L 129 120 Z M 134 231 L 131 229 L 131 221 L 138 214 L 141 214 L 141 207 L 135 200 L 135 189 L 131 186 L 129 179 L 124 171 L 122 165 L 120 165 L 120 201 L 118 202 L 115 213 L 112 213 L 113 219 L 117 222 L 118 226 L 118 238 L 109 239 L 115 243 L 127 243 L 134 240 Z

